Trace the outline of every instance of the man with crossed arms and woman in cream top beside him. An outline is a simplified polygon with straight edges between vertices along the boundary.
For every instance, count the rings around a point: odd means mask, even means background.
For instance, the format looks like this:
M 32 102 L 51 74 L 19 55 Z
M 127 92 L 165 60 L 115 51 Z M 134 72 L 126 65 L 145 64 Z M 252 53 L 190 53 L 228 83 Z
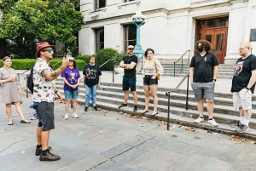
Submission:
M 136 92 L 136 66 L 137 66 L 137 56 L 134 55 L 134 47 L 129 45 L 127 47 L 128 56 L 120 62 L 119 66 L 124 68 L 125 74 L 123 76 L 122 88 L 124 91 L 124 103 L 119 106 L 119 108 L 128 107 L 128 99 L 129 99 L 129 88 L 132 93 L 133 101 L 134 101 L 134 109 L 133 111 L 138 110 L 137 106 L 137 92 Z M 145 51 L 145 60 L 143 62 L 143 88 L 145 94 L 145 108 L 142 114 L 145 114 L 149 110 L 149 93 L 151 92 L 153 101 L 154 101 L 154 110 L 151 113 L 152 116 L 158 114 L 157 111 L 157 85 L 158 79 L 160 75 L 163 74 L 164 69 L 161 66 L 160 61 L 154 59 L 154 50 L 152 48 L 147 48 Z

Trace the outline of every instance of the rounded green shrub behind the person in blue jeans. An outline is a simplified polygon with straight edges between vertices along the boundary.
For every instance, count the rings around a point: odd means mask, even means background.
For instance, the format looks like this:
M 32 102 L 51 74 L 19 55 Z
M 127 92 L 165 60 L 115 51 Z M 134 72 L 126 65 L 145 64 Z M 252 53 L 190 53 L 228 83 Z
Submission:
M 96 65 L 101 66 L 108 60 L 113 60 L 116 55 L 119 53 L 117 50 L 113 48 L 103 48 L 99 52 L 96 53 Z M 113 70 L 113 63 L 108 62 L 104 66 L 101 67 L 102 71 L 112 71 Z

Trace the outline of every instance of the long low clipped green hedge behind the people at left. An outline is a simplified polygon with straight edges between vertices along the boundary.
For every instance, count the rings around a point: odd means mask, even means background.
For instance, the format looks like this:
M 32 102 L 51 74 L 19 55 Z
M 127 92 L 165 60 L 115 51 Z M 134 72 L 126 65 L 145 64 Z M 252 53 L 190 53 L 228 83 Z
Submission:
M 59 62 L 60 61 L 60 62 Z M 84 60 L 76 60 L 77 68 L 79 71 L 84 71 L 85 62 Z M 30 70 L 32 66 L 36 63 L 36 59 L 24 59 L 24 60 L 12 60 L 11 68 L 15 70 Z M 59 62 L 59 63 L 58 63 Z M 55 65 L 58 63 L 57 65 Z M 61 66 L 61 60 L 49 60 L 50 65 L 55 65 L 54 70 Z M 0 60 L 0 67 L 3 66 L 3 60 Z

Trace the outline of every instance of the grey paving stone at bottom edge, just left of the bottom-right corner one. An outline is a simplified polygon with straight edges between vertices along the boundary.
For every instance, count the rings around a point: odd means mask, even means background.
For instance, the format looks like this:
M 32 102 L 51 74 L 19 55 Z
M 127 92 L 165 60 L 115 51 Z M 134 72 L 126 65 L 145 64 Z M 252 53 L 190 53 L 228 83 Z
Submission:
M 172 171 L 227 171 L 231 164 L 216 158 L 193 154 L 185 160 L 177 163 Z

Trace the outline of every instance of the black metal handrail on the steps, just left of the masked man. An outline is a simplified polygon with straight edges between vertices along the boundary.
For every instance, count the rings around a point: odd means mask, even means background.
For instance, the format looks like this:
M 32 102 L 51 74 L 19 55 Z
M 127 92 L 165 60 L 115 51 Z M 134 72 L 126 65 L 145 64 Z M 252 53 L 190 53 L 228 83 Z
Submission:
M 183 81 L 186 79 L 186 77 L 188 78 L 188 82 L 187 82 L 187 97 L 186 97 L 186 111 L 188 111 L 189 109 L 189 73 L 187 73 L 182 81 L 180 81 L 180 83 L 177 84 L 176 88 L 166 91 L 166 96 L 168 96 L 168 117 L 167 117 L 167 130 L 170 129 L 170 94 L 171 92 L 175 92 L 177 91 L 177 88 L 179 88 L 179 86 L 183 83 Z

